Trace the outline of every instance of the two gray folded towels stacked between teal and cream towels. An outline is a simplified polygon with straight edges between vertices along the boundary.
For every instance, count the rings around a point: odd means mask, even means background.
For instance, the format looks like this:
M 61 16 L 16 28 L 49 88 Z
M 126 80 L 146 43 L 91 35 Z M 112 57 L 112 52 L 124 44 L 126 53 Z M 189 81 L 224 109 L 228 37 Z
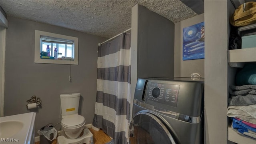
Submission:
M 230 86 L 231 106 L 248 106 L 256 104 L 256 85 Z

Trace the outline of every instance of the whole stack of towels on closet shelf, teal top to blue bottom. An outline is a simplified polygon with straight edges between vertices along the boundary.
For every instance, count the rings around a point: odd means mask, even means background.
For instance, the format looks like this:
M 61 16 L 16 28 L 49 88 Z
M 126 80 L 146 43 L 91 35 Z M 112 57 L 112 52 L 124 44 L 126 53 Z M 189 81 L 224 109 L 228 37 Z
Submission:
M 230 86 L 227 116 L 234 131 L 256 139 L 256 64 L 245 64 Z

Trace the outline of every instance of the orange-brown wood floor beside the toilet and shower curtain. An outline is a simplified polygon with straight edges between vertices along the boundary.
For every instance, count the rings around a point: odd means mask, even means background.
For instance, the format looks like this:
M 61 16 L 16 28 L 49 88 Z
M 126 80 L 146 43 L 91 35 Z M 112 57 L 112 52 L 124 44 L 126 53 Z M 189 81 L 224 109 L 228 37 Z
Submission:
M 96 131 L 92 128 L 89 128 L 93 135 L 93 142 L 94 144 L 105 144 L 111 140 L 111 138 L 104 133 L 102 130 Z M 40 144 L 39 142 L 35 142 L 35 144 Z M 52 144 L 57 144 L 57 140 L 54 140 Z

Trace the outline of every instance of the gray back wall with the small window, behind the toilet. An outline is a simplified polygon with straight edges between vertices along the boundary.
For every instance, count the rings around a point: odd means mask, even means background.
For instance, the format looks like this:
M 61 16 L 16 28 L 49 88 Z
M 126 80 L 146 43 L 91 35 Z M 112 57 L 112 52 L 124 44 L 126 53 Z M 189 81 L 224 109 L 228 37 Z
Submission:
M 98 43 L 107 38 L 48 24 L 8 17 L 6 37 L 4 116 L 30 112 L 26 100 L 36 96 L 42 108 L 36 112 L 35 131 L 60 122 L 60 94 L 81 93 L 80 114 L 91 124 L 96 100 Z M 79 38 L 79 65 L 34 63 L 35 30 Z M 34 111 L 34 110 L 33 110 Z M 60 124 L 56 127 L 60 128 Z

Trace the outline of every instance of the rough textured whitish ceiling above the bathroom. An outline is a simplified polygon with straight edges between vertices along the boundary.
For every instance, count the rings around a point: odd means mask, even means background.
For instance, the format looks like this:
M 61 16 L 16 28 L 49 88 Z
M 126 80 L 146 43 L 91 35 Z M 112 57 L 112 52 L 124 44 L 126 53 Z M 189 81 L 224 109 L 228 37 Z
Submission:
M 7 16 L 106 38 L 131 28 L 135 4 L 174 23 L 197 15 L 180 0 L 1 0 L 0 4 Z

